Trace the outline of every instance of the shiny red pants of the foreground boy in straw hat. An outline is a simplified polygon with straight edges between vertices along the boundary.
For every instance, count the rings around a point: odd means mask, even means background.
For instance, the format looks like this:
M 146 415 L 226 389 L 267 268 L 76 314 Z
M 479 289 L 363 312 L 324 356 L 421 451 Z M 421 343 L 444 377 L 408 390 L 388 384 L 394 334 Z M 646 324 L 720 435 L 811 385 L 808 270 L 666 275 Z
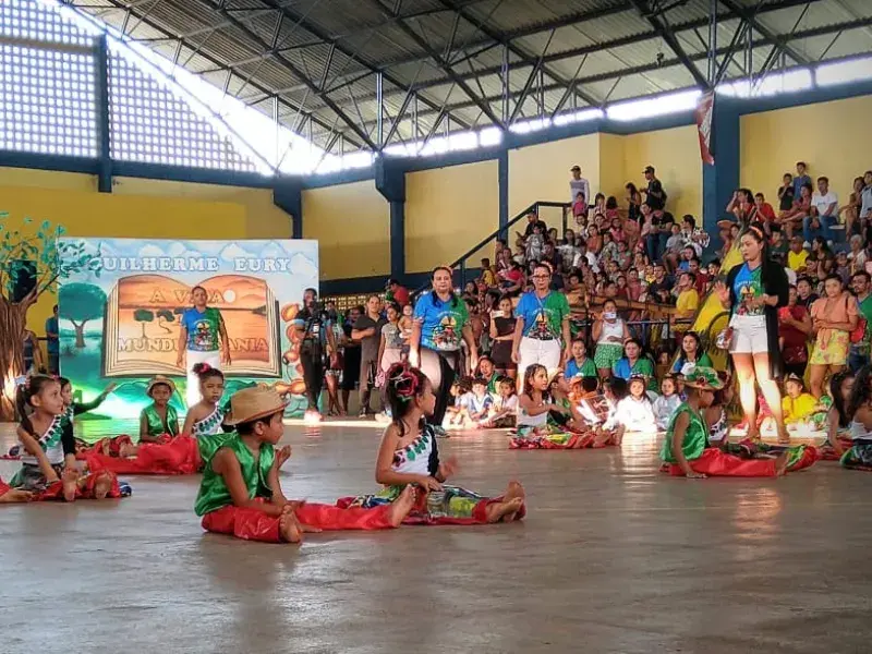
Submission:
M 340 509 L 332 505 L 305 502 L 294 510 L 300 524 L 322 531 L 391 529 L 389 506 L 374 509 Z M 251 508 L 227 506 L 203 517 L 203 529 L 244 541 L 281 543 L 280 518 Z

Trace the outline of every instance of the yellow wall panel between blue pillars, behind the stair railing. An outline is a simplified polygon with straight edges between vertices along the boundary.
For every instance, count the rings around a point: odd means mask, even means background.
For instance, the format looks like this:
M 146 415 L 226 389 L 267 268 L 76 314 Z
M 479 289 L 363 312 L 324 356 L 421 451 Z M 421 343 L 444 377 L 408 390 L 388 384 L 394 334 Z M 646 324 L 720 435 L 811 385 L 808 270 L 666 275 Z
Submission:
M 448 265 L 493 233 L 499 227 L 498 189 L 496 160 L 408 173 L 407 271 Z M 493 257 L 493 244 L 486 246 L 468 265 L 477 267 L 482 256 Z

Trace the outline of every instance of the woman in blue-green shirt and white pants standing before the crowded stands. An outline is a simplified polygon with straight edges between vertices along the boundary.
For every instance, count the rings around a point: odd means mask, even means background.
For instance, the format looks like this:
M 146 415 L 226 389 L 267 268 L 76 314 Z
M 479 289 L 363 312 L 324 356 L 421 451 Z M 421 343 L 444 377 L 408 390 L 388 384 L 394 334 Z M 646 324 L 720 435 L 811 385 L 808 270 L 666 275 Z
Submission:
M 521 295 L 516 307 L 512 361 L 518 378 L 533 364 L 552 370 L 572 356 L 569 336 L 569 302 L 549 290 L 552 271 L 544 264 L 533 269 L 533 291 Z

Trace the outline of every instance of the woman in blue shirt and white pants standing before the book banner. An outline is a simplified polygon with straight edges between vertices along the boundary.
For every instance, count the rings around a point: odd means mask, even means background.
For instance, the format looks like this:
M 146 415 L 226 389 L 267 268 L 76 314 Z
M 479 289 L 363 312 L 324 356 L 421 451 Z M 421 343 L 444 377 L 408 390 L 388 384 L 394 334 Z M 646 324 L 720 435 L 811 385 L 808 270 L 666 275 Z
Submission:
M 201 286 L 191 289 L 194 306 L 185 310 L 179 319 L 181 329 L 175 365 L 187 373 L 185 399 L 189 407 L 199 402 L 199 377 L 194 373 L 194 365 L 208 363 L 220 370 L 222 364 L 230 364 L 230 341 L 225 319 L 220 311 L 206 306 L 206 289 Z

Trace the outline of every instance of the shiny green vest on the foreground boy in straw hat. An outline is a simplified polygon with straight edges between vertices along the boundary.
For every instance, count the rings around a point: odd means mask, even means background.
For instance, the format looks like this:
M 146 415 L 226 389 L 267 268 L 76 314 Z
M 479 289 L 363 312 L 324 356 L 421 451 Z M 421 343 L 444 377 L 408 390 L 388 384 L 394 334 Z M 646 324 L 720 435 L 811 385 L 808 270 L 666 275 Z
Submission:
M 269 489 L 267 479 L 275 458 L 272 446 L 267 443 L 261 445 L 261 458 L 258 461 L 255 460 L 254 455 L 240 438 L 239 434 L 231 432 L 227 436 L 229 438 L 225 439 L 222 447 L 232 450 L 239 460 L 242 469 L 242 479 L 249 489 L 249 499 L 271 497 L 272 493 Z M 218 448 L 215 451 L 217 452 Z M 213 452 L 213 456 L 215 456 L 215 452 Z M 194 505 L 194 512 L 197 516 L 205 516 L 233 504 L 230 491 L 225 484 L 225 479 L 211 469 L 211 457 L 205 460 L 205 464 L 203 481 L 199 483 L 199 493 L 197 493 L 196 504 Z

